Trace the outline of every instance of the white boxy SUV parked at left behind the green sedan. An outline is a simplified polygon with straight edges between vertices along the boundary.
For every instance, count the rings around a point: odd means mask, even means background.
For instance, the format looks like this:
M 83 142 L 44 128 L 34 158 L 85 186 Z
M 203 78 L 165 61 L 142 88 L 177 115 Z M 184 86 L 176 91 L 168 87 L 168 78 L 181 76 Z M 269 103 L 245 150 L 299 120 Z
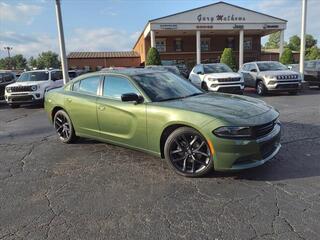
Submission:
M 61 70 L 28 71 L 22 73 L 15 83 L 6 86 L 5 99 L 12 108 L 21 104 L 43 103 L 44 94 L 48 89 L 62 85 Z

